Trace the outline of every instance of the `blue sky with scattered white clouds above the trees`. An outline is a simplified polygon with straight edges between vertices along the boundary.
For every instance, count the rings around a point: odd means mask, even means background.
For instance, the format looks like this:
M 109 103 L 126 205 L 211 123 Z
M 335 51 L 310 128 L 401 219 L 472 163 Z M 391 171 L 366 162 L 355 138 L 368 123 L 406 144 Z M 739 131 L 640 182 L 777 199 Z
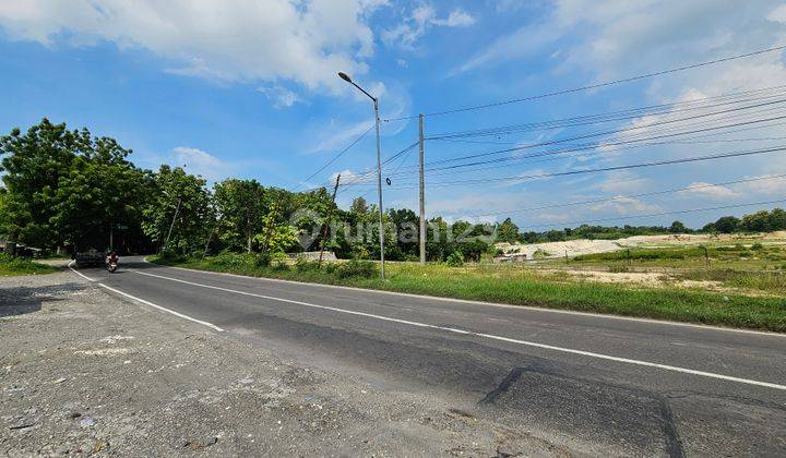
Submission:
M 786 44 L 781 1 L 120 1 L 29 0 L 0 4 L 0 131 L 43 117 L 88 126 L 133 148 L 132 160 L 187 168 L 216 181 L 255 178 L 306 189 L 336 172 L 359 180 L 373 166 L 373 135 L 309 177 L 371 124 L 370 103 L 335 75 L 346 71 L 398 118 L 655 72 Z M 427 135 L 684 103 L 786 84 L 782 52 L 531 103 L 426 120 Z M 777 94 L 776 94 L 777 95 Z M 778 113 L 778 106 L 773 107 Z M 474 138 L 430 141 L 427 162 L 604 128 L 643 118 Z M 739 119 L 739 118 L 736 118 Z M 750 118 L 755 119 L 755 118 Z M 717 132 L 716 144 L 651 145 L 561 160 L 434 171 L 427 183 L 614 167 L 786 144 L 783 125 Z M 643 131 L 647 131 L 644 129 Z M 655 130 L 652 130 L 655 131 Z M 383 157 L 417 140 L 417 121 L 383 123 Z M 612 135 L 614 141 L 624 135 Z M 711 137 L 712 140 L 713 137 Z M 737 142 L 739 141 L 739 142 Z M 499 144 L 498 144 L 499 143 Z M 600 153 L 604 153 L 603 150 Z M 513 156 L 520 153 L 509 153 Z M 497 156 L 495 156 L 497 157 Z M 392 161 L 386 205 L 416 208 L 417 152 Z M 612 201 L 510 213 L 523 229 L 606 224 L 698 226 L 745 207 L 632 219 L 671 210 L 786 198 L 782 154 L 588 173 L 535 181 L 429 186 L 429 214 L 489 220 L 503 212 L 567 202 Z M 704 186 L 740 179 L 748 183 Z M 376 200 L 372 182 L 340 194 Z M 299 186 L 299 188 L 298 188 Z M 674 194 L 629 197 L 695 186 Z M 766 205 L 770 207 L 772 205 Z M 495 215 L 489 215 L 495 214 Z

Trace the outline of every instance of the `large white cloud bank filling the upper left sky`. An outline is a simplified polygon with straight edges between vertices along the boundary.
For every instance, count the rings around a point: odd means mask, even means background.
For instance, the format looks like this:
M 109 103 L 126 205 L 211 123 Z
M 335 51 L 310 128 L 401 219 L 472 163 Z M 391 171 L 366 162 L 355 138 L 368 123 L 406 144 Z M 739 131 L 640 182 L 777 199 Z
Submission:
M 373 53 L 368 15 L 384 1 L 47 0 L 0 3 L 0 27 L 46 46 L 147 49 L 170 73 L 225 82 L 293 81 L 347 91 L 337 69 L 361 74 Z

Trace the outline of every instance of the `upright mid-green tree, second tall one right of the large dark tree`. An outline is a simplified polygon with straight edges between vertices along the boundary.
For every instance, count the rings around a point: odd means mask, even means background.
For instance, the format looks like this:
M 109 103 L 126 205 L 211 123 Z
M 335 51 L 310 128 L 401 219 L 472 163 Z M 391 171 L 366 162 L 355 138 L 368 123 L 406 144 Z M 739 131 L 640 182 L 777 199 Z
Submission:
M 264 228 L 267 212 L 265 189 L 257 180 L 228 179 L 214 188 L 221 238 L 230 248 L 245 246 L 251 253 L 254 236 Z

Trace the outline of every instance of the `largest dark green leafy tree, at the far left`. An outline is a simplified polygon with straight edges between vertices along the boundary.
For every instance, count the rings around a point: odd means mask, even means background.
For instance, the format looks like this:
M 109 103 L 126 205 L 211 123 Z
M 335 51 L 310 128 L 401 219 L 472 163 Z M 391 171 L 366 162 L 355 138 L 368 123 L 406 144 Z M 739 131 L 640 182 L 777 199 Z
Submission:
M 117 225 L 141 234 L 147 174 L 114 138 L 69 131 L 46 118 L 0 138 L 7 186 L 3 229 L 11 240 L 51 249 L 106 248 Z

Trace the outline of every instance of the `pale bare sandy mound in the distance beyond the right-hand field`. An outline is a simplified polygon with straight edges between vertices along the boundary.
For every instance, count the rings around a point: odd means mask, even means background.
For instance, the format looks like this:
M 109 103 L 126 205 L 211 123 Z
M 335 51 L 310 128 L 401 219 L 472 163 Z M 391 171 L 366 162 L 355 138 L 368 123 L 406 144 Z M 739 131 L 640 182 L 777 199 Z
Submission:
M 618 250 L 624 250 L 628 248 L 636 246 L 680 246 L 691 245 L 701 243 L 717 243 L 717 242 L 748 242 L 753 243 L 755 241 L 783 241 L 786 240 L 786 231 L 776 231 L 759 234 L 687 234 L 687 233 L 675 233 L 675 234 L 663 234 L 663 236 L 634 236 L 619 240 L 570 240 L 567 242 L 549 242 L 549 243 L 532 243 L 532 244 L 510 244 L 510 243 L 498 243 L 496 246 L 500 248 L 505 254 L 526 254 L 527 260 L 534 260 L 535 252 L 540 252 L 544 258 L 562 257 L 565 254 L 568 256 L 579 256 L 581 254 L 593 254 L 593 253 L 607 253 Z

